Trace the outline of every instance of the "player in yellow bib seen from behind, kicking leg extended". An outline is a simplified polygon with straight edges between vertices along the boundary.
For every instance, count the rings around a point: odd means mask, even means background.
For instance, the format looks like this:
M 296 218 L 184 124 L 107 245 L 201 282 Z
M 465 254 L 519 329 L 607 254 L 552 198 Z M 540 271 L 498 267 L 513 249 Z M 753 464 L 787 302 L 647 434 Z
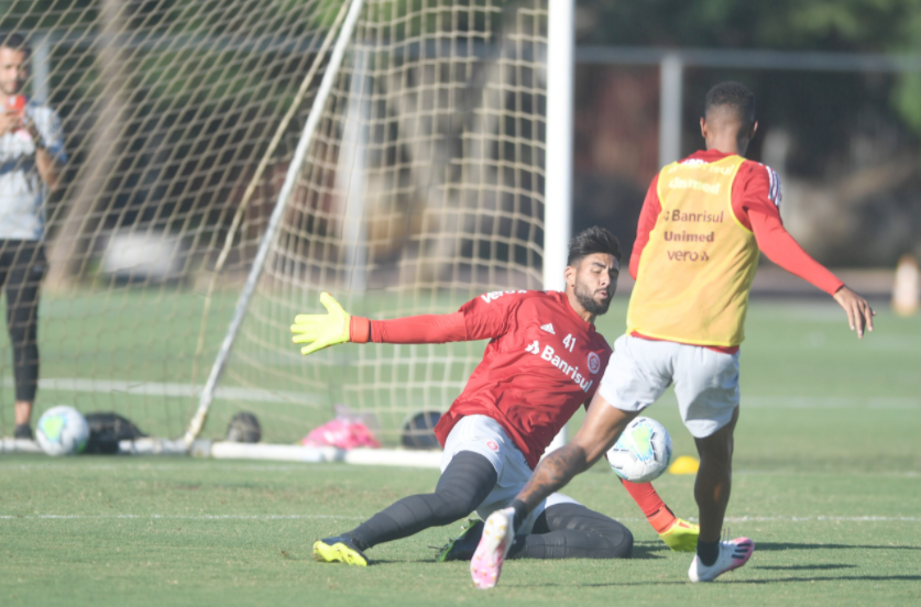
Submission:
M 700 128 L 706 150 L 666 166 L 649 186 L 631 257 L 636 286 L 627 333 L 615 342 L 582 428 L 540 463 L 509 508 L 487 519 L 471 561 L 480 587 L 495 585 L 518 521 L 591 467 L 672 383 L 700 454 L 700 538 L 688 575 L 710 582 L 748 561 L 754 542 L 721 542 L 720 532 L 738 419 L 738 347 L 759 250 L 834 297 L 858 336 L 864 328 L 873 330 L 866 300 L 783 229 L 777 174 L 743 157 L 758 128 L 755 96 L 738 82 L 716 85 L 706 95 Z

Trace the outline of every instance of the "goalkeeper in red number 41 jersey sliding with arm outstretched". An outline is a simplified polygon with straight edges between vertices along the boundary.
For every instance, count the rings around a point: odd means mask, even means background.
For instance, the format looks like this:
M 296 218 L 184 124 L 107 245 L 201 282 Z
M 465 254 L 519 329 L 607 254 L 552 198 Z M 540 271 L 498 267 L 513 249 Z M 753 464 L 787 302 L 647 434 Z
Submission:
M 405 497 L 357 528 L 317 541 L 314 558 L 365 566 L 383 542 L 449 525 L 476 510 L 485 519 L 525 486 L 544 451 L 572 413 L 597 390 L 611 346 L 595 331 L 617 284 L 621 251 L 601 228 L 569 245 L 566 290 L 495 291 L 451 314 L 395 320 L 350 317 L 328 294 L 328 314 L 300 314 L 292 331 L 310 354 L 344 342 L 446 343 L 491 340 L 463 393 L 435 428 L 445 448 L 431 494 Z M 697 545 L 698 527 L 678 519 L 649 483 L 624 486 L 672 550 Z M 483 530 L 478 521 L 439 553 L 469 560 Z M 633 534 L 620 522 L 562 494 L 542 500 L 518 529 L 511 558 L 625 559 Z

